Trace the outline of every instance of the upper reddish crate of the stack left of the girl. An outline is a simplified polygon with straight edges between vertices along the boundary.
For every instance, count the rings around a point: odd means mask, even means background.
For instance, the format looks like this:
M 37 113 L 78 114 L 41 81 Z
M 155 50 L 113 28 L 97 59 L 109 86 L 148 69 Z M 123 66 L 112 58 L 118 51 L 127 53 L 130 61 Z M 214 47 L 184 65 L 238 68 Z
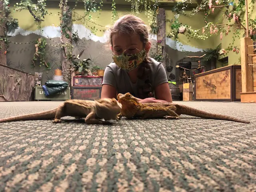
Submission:
M 99 76 L 74 76 L 73 86 L 101 86 L 102 81 Z

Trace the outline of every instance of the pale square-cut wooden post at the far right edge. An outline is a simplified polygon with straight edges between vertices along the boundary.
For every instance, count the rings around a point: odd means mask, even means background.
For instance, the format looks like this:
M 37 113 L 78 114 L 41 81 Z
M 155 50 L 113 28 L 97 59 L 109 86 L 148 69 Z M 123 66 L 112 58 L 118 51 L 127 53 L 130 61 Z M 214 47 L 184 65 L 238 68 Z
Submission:
M 252 78 L 252 56 L 253 54 L 253 41 L 250 37 L 241 39 L 241 73 L 242 73 L 242 93 L 253 92 L 253 78 Z

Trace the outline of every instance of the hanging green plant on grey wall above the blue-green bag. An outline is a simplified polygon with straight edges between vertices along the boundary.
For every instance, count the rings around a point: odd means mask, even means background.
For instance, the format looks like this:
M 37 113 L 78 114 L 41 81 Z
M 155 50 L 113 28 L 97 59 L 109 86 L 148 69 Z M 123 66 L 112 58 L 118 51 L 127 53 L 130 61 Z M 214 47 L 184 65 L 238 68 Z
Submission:
M 32 58 L 32 63 L 34 66 L 36 66 L 35 62 L 39 60 L 39 66 L 45 65 L 47 68 L 50 68 L 50 63 L 46 62 L 46 39 L 45 38 L 38 38 L 36 41 L 35 47 L 36 52 L 34 53 L 34 56 Z

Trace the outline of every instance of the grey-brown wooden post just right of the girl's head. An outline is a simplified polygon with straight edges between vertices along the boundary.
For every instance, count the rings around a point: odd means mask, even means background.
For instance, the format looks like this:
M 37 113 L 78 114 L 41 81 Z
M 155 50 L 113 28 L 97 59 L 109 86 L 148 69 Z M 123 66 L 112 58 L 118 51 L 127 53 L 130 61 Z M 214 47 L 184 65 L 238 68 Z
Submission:
M 165 21 L 165 9 L 159 8 L 158 14 L 156 16 L 157 20 L 157 26 L 158 26 L 158 32 L 157 32 L 157 41 L 161 41 L 161 52 L 162 54 L 162 65 L 164 68 L 166 68 L 166 51 L 165 51 L 165 45 L 166 45 L 166 21 Z M 158 53 L 159 54 L 159 53 Z

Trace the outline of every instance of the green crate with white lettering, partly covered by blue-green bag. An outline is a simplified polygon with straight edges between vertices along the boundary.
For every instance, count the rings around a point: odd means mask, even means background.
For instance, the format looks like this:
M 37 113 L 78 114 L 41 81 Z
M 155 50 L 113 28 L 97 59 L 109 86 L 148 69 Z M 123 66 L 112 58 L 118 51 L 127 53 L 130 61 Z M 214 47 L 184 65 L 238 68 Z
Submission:
M 42 86 L 35 87 L 35 100 L 55 101 L 55 100 L 68 100 L 68 99 L 70 99 L 70 87 L 68 87 L 66 90 L 62 92 L 49 95 L 49 96 L 45 96 Z

